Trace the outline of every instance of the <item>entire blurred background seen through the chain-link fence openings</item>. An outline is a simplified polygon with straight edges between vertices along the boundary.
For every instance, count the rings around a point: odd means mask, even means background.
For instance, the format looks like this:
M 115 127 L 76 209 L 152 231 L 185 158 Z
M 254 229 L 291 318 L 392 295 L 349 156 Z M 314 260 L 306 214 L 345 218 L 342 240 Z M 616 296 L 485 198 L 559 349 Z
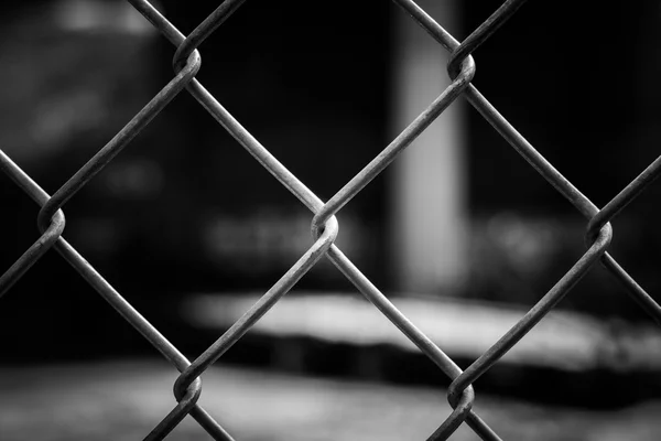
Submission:
M 188 33 L 218 2 L 154 4 Z M 419 4 L 462 40 L 500 2 Z M 0 148 L 52 194 L 173 77 L 174 47 L 119 0 L 0 9 Z M 474 84 L 603 206 L 658 155 L 660 20 L 652 1 L 531 2 L 476 52 Z M 323 200 L 449 84 L 443 47 L 388 1 L 251 0 L 201 52 L 197 78 Z M 652 297 L 659 196 L 610 247 Z M 3 271 L 39 207 L 6 175 L 0 200 Z M 313 243 L 312 214 L 186 93 L 65 213 L 67 240 L 191 359 Z M 586 249 L 586 220 L 463 98 L 338 219 L 339 248 L 463 368 Z M 174 369 L 55 252 L 1 299 L 0 335 L 2 440 L 139 439 L 174 406 Z M 505 439 L 658 439 L 660 366 L 661 332 L 595 267 L 477 381 L 476 408 Z M 451 411 L 449 381 L 326 260 L 204 378 L 246 440 L 422 439 Z

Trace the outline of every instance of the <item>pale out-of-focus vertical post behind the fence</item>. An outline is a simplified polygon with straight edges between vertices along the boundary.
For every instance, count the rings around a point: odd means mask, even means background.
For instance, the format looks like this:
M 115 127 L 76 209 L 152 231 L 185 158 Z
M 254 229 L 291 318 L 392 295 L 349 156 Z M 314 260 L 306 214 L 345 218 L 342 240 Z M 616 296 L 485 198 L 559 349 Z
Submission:
M 456 0 L 418 1 L 451 33 Z M 404 13 L 393 35 L 391 133 L 399 133 L 449 84 L 448 53 Z M 464 106 L 455 101 L 393 164 L 391 256 L 402 291 L 457 292 L 467 270 Z

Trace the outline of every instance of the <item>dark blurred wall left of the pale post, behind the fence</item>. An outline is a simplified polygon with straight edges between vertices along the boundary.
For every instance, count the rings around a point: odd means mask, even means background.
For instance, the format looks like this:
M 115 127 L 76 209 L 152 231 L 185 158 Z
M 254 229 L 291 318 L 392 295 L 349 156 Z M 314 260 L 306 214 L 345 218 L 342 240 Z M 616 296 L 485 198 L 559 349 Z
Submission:
M 217 2 L 156 6 L 187 33 Z M 4 8 L 11 39 L 0 46 L 0 80 L 11 87 L 0 90 L 0 144 L 53 193 L 172 78 L 174 47 L 123 1 Z M 347 15 L 322 3 L 247 2 L 204 43 L 198 78 L 328 198 L 386 144 L 389 8 L 368 1 Z M 10 213 L 0 254 L 8 268 L 37 237 L 37 207 L 4 175 L 0 189 Z M 338 239 L 381 286 L 389 281 L 384 206 L 379 178 L 342 211 Z M 160 329 L 181 321 L 171 301 L 266 290 L 313 243 L 312 214 L 186 93 L 65 213 L 67 240 Z M 348 286 L 324 262 L 299 288 Z M 55 252 L 2 299 L 0 326 L 23 335 L 19 352 L 141 344 Z

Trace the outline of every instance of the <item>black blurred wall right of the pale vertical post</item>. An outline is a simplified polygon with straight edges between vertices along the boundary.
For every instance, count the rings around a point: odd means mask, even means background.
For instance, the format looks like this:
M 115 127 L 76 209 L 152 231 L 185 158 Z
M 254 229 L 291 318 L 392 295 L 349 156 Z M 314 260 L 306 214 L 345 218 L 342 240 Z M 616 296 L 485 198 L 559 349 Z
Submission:
M 499 1 L 469 1 L 465 29 Z M 561 173 L 604 206 L 658 155 L 658 2 L 565 8 L 527 2 L 475 56 L 476 87 Z M 585 251 L 587 222 L 470 108 L 472 297 L 531 304 Z M 652 184 L 614 219 L 614 257 L 652 295 L 661 245 Z M 561 303 L 608 316 L 644 313 L 596 266 Z M 647 320 L 647 319 L 646 319 Z

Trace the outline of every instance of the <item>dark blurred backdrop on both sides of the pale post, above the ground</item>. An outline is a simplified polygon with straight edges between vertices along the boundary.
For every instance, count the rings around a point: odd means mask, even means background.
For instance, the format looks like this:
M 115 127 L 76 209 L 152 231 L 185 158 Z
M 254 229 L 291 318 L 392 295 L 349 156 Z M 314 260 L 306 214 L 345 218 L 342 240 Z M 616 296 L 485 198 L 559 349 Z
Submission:
M 11 37 L 0 43 L 0 146 L 50 193 L 172 78 L 174 54 L 160 35 L 64 32 L 48 15 L 52 4 L 3 3 Z M 184 33 L 216 4 L 162 2 Z M 457 37 L 499 2 L 462 6 Z M 398 62 L 390 31 L 401 13 L 376 0 L 349 7 L 251 0 L 203 44 L 198 78 L 326 200 L 390 141 L 390 67 Z M 475 54 L 478 89 L 600 206 L 655 158 L 660 13 L 642 1 L 621 10 L 530 2 Z M 55 122 L 46 123 L 50 117 Z M 472 277 L 455 294 L 531 306 L 584 252 L 587 222 L 474 109 L 467 133 Z M 339 215 L 347 241 L 340 247 L 386 293 L 395 286 L 384 255 L 388 192 L 395 185 L 389 178 L 387 171 L 376 179 Z M 611 247 L 652 295 L 658 192 L 652 185 L 615 220 Z M 0 198 L 0 268 L 8 268 L 39 237 L 37 207 L 3 175 Z M 207 342 L 187 333 L 177 309 L 183 298 L 266 291 L 312 244 L 312 214 L 186 93 L 65 213 L 67 240 L 193 354 Z M 235 254 L 214 247 L 223 241 L 214 240 L 218 225 L 219 237 L 236 239 Z M 262 240 L 256 232 L 264 225 L 273 229 Z M 506 240 L 517 235 L 538 250 L 525 265 L 522 243 Z M 292 237 L 304 245 L 290 247 Z M 328 265 L 297 288 L 355 291 Z M 650 322 L 598 268 L 560 308 Z M 0 335 L 8 361 L 154 353 L 55 252 L 1 300 Z

